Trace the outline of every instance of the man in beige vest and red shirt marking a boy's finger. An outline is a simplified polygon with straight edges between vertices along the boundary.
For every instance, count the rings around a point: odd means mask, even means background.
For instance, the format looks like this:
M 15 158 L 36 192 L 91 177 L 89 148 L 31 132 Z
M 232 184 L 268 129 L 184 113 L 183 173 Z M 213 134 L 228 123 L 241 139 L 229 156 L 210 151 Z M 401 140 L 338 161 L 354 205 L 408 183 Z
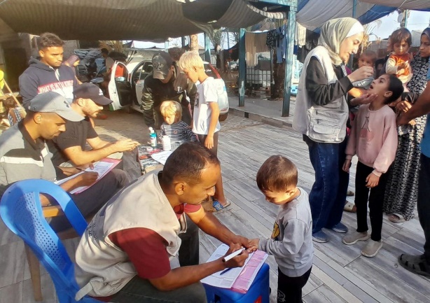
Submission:
M 207 302 L 200 280 L 229 267 L 242 267 L 244 251 L 223 262 L 172 269 L 169 259 L 182 253 L 179 234 L 187 215 L 203 232 L 248 247 L 200 205 L 214 195 L 221 174 L 218 158 L 199 143 L 187 142 L 151 171 L 111 199 L 92 219 L 76 250 L 76 281 L 84 295 L 102 302 Z M 188 233 L 188 232 L 187 232 Z

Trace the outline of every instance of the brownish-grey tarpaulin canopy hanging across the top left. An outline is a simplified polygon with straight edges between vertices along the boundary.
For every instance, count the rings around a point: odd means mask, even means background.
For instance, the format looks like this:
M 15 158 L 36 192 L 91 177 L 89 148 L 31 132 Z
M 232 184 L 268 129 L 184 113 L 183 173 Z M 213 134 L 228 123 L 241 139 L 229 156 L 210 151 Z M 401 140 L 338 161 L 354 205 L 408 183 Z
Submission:
M 245 0 L 4 0 L 0 19 L 16 32 L 53 31 L 65 40 L 165 41 L 219 27 L 280 18 Z M 0 23 L 1 24 L 1 23 Z

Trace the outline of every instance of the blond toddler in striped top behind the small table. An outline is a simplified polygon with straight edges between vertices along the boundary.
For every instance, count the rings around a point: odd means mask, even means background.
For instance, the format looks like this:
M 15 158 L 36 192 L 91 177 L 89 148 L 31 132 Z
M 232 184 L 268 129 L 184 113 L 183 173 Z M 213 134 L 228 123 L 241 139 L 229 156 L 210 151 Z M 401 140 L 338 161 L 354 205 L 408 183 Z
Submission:
M 169 136 L 170 141 L 197 141 L 193 131 L 188 128 L 182 118 L 182 106 L 176 101 L 164 101 L 160 112 L 165 122 L 160 127 L 160 138 Z

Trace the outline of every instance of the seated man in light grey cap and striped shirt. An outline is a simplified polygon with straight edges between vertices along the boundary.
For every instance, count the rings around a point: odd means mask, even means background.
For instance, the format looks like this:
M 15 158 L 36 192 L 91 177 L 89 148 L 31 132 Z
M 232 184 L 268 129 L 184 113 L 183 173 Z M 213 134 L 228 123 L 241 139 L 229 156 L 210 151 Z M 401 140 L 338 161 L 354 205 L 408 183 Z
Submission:
M 56 167 L 50 160 L 45 140 L 53 139 L 66 129 L 66 121 L 78 122 L 83 119 L 71 109 L 67 99 L 57 92 L 38 94 L 29 101 L 27 116 L 18 124 L 7 129 L 0 135 L 0 195 L 12 183 L 27 179 L 56 180 Z M 66 175 L 74 175 L 78 169 L 62 169 Z M 95 183 L 97 173 L 84 172 L 62 183 L 63 190 L 70 192 L 81 186 Z M 113 169 L 88 190 L 71 195 L 76 206 L 84 217 L 96 213 L 106 202 L 128 183 L 126 174 Z M 70 195 L 70 194 L 69 194 Z M 43 206 L 51 201 L 43 197 Z M 50 225 L 57 232 L 71 227 L 64 216 L 50 220 Z

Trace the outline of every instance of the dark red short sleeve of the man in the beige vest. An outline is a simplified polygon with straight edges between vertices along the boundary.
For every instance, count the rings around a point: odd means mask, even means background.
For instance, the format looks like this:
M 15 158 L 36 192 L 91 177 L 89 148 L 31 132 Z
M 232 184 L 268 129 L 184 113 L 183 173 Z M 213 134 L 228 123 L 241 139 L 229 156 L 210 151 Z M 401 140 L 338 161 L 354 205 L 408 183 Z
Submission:
M 141 279 L 157 279 L 170 272 L 167 241 L 153 230 L 129 228 L 109 234 L 109 239 L 127 253 Z

